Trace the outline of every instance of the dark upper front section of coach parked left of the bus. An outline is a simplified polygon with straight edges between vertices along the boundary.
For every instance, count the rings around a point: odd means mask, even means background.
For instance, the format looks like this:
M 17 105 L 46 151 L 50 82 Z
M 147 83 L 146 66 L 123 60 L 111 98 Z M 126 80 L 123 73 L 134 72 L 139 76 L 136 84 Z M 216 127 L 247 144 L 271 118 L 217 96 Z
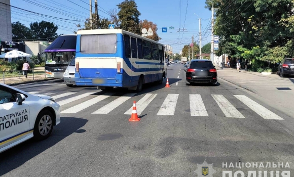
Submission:
M 76 52 L 77 34 L 58 36 L 45 52 Z

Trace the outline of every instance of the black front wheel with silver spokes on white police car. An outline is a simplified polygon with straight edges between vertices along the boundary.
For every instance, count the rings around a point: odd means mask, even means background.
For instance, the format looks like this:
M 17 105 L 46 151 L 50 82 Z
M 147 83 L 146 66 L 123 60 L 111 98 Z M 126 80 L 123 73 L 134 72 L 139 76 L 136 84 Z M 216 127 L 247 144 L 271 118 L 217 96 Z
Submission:
M 36 141 L 47 139 L 53 130 L 53 116 L 48 110 L 39 113 L 35 120 L 33 137 Z

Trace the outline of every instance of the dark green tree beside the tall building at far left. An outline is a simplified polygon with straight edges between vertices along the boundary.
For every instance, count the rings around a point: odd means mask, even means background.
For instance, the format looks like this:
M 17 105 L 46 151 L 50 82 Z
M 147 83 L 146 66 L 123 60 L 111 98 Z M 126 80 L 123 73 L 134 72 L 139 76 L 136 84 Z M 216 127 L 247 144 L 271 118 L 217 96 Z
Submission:
M 32 38 L 31 30 L 19 21 L 11 23 L 12 39 L 16 42 Z

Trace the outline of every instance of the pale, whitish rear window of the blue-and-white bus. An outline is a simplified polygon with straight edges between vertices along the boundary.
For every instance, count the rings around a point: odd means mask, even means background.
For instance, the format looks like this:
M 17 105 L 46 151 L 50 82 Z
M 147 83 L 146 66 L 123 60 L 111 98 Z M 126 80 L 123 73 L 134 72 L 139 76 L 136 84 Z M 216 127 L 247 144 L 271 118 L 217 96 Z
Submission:
M 117 52 L 116 34 L 92 34 L 81 36 L 82 54 L 115 54 Z

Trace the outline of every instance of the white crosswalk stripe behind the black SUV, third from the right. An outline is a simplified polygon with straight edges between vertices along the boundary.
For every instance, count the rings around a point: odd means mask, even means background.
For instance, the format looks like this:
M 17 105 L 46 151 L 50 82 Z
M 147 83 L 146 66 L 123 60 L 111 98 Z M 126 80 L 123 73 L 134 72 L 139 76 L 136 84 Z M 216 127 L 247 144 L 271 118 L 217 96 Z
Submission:
M 190 113 L 191 116 L 208 117 L 208 113 L 199 94 L 190 94 Z

